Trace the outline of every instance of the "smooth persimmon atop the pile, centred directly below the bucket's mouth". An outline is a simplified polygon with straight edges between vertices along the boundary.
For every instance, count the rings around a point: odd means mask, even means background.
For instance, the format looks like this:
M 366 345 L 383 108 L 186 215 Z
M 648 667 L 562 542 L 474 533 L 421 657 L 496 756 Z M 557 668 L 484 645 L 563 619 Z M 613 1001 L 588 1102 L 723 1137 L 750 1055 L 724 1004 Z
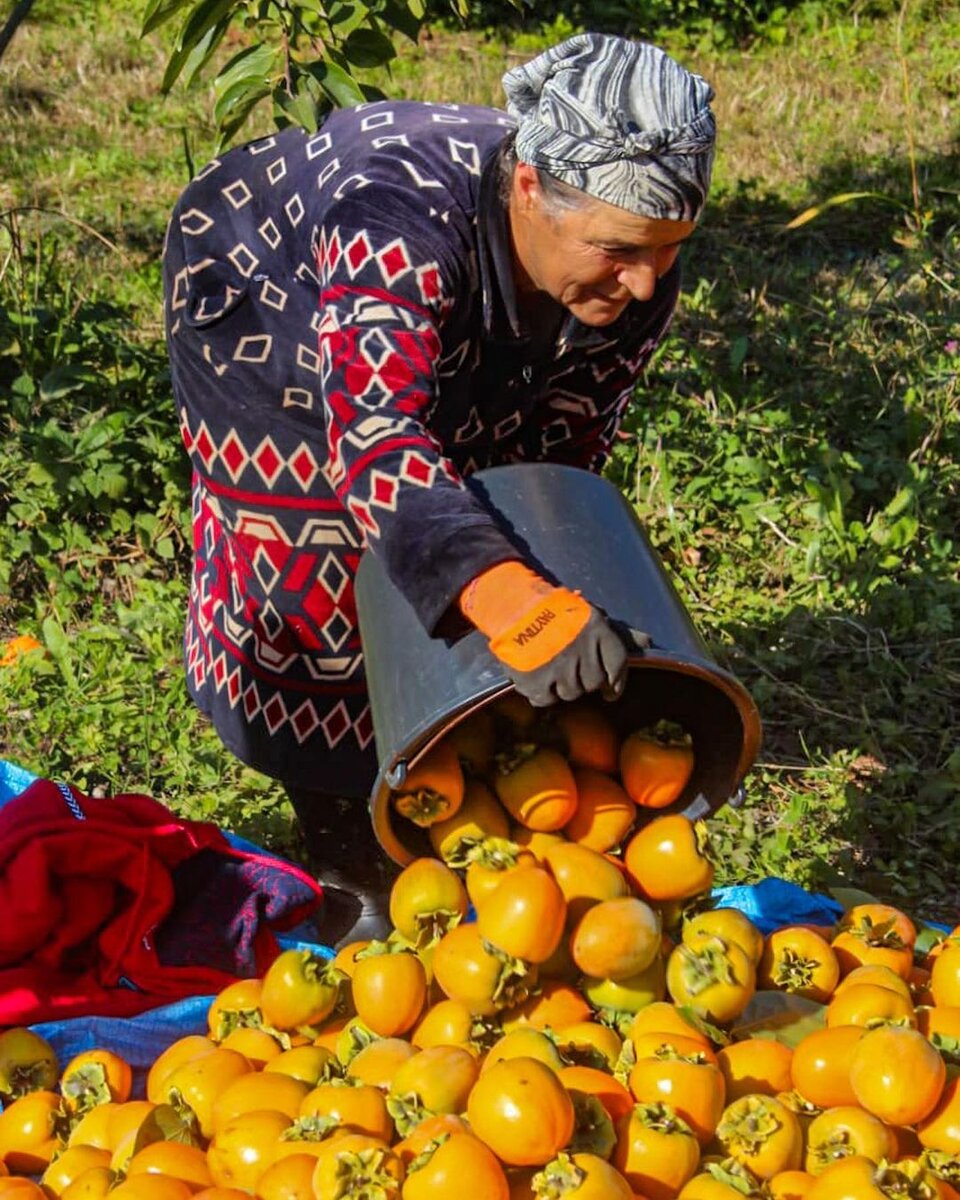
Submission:
M 544 962 L 563 937 L 566 900 L 542 866 L 510 871 L 476 910 L 481 937 L 504 954 L 526 962 Z

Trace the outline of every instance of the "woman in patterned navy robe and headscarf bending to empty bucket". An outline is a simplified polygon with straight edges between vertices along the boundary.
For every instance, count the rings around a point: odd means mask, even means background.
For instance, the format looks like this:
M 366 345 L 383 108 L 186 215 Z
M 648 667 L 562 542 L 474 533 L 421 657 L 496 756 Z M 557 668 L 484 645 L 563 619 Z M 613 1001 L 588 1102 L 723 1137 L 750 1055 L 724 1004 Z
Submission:
M 365 547 L 427 630 L 481 629 L 534 703 L 623 684 L 604 616 L 524 565 L 463 478 L 601 467 L 677 302 L 713 94 L 595 34 L 503 82 L 508 112 L 378 102 L 232 150 L 164 250 L 194 468 L 190 691 L 286 784 L 341 907 L 388 883 L 365 805 Z

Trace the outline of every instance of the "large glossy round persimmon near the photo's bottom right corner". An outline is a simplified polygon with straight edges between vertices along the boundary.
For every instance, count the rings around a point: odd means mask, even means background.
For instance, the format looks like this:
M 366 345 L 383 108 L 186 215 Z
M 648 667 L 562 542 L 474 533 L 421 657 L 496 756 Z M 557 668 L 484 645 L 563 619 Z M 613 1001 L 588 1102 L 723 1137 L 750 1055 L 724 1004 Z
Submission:
M 936 1108 L 947 1068 L 918 1030 L 869 1030 L 857 1043 L 850 1084 L 857 1103 L 888 1124 L 912 1126 Z

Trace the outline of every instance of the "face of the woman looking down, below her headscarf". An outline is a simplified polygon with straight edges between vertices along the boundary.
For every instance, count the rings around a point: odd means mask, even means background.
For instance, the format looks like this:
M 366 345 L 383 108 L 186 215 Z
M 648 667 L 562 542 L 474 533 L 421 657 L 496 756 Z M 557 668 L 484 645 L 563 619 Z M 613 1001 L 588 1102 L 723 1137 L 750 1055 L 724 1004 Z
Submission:
M 516 167 L 510 230 L 517 287 L 545 292 L 584 325 L 610 325 L 631 300 L 649 300 L 695 228 L 593 198 L 550 212 L 534 168 Z

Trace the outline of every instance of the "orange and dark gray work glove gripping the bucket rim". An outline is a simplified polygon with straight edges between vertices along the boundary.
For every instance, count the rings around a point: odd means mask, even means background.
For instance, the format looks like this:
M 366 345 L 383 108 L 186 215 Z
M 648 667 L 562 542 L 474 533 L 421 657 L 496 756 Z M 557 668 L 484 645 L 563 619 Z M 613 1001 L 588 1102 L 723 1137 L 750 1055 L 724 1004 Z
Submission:
M 460 611 L 490 641 L 517 691 L 540 708 L 626 683 L 626 646 L 578 592 L 548 583 L 523 563 L 498 563 L 460 593 Z

